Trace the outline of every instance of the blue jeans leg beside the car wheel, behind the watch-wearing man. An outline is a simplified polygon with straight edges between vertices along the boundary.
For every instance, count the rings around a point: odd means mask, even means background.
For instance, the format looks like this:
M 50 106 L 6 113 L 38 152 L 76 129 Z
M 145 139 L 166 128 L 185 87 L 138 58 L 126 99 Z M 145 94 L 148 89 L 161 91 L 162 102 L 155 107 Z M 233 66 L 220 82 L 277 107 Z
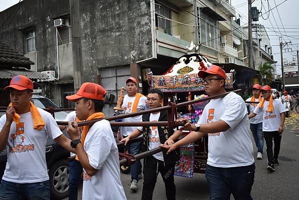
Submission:
M 70 178 L 69 178 L 69 200 L 78 199 L 78 186 L 82 174 L 82 165 L 79 161 L 69 162 Z

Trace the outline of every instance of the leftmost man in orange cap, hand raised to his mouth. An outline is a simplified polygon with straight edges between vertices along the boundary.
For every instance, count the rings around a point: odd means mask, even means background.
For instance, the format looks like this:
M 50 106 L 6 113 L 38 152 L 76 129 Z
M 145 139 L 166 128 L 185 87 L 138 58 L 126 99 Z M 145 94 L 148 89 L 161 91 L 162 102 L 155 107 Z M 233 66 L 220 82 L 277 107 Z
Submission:
M 50 200 L 50 183 L 45 158 L 50 137 L 74 152 L 52 115 L 30 101 L 33 82 L 14 76 L 9 86 L 10 104 L 0 118 L 0 152 L 7 145 L 7 163 L 0 184 L 0 200 Z

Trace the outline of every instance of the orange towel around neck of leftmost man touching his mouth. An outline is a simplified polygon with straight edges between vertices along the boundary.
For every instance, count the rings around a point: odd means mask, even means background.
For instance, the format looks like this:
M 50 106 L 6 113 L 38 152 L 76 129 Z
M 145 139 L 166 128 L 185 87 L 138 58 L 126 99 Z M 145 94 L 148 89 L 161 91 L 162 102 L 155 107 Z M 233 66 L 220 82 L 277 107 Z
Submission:
M 12 104 L 10 103 L 9 106 L 12 106 Z M 32 115 L 32 119 L 33 119 L 33 128 L 40 130 L 44 127 L 45 122 L 43 121 L 39 111 L 37 110 L 37 107 L 34 106 L 34 104 L 30 101 L 30 112 Z M 20 123 L 20 116 L 17 113 L 13 114 L 13 121 L 18 124 Z

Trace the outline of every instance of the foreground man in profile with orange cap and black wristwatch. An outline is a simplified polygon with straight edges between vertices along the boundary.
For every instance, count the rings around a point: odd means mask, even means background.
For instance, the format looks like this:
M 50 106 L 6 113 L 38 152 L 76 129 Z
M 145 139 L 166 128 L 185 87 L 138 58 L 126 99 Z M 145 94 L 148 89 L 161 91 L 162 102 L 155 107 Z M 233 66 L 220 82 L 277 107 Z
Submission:
M 66 98 L 76 102 L 79 120 L 104 118 L 106 90 L 95 83 L 83 83 L 77 94 Z M 101 120 L 80 131 L 77 122 L 69 122 L 71 146 L 83 167 L 83 200 L 126 200 L 120 178 L 118 148 L 109 121 Z

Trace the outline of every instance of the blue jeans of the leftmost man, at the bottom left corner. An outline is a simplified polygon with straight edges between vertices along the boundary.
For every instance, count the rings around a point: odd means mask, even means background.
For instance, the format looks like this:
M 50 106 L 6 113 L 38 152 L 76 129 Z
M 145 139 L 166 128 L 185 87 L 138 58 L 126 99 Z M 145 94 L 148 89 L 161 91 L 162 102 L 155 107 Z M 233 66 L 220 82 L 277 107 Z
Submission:
M 50 200 L 50 182 L 17 184 L 1 181 L 0 200 Z

